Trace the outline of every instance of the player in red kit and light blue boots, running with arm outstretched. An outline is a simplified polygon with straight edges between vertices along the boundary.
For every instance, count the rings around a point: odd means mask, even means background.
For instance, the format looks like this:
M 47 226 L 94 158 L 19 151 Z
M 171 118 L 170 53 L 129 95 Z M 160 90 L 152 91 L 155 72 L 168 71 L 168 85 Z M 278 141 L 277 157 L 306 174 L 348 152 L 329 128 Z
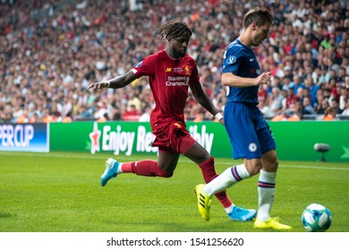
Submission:
M 217 111 L 201 87 L 196 63 L 190 55 L 186 54 L 192 30 L 183 22 L 167 22 L 158 29 L 157 34 L 166 39 L 165 50 L 147 56 L 122 76 L 89 85 L 89 89 L 121 88 L 135 79 L 148 76 L 156 104 L 150 115 L 150 124 L 156 137 L 152 146 L 158 147 L 157 161 L 117 162 L 109 158 L 100 180 L 102 187 L 106 186 L 109 179 L 127 172 L 142 176 L 170 178 L 174 174 L 180 154 L 199 165 L 205 182 L 217 177 L 213 156 L 194 140 L 184 123 L 183 110 L 190 87 L 195 99 L 224 124 L 222 114 Z M 232 220 L 236 220 L 235 217 L 241 218 L 241 216 L 235 216 L 236 212 L 255 212 L 234 208 L 234 204 L 226 195 L 226 190 L 217 193 L 216 196 L 226 209 L 227 216 Z M 198 206 L 200 208 L 200 204 Z M 209 221 L 209 215 L 202 217 Z

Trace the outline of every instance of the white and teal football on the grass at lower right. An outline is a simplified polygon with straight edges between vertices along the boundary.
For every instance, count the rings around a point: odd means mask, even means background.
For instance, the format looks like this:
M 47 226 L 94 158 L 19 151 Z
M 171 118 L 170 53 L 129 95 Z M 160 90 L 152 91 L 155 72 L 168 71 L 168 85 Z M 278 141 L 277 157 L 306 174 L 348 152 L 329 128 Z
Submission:
M 310 232 L 324 232 L 331 226 L 332 215 L 322 204 L 310 204 L 302 212 L 302 223 Z

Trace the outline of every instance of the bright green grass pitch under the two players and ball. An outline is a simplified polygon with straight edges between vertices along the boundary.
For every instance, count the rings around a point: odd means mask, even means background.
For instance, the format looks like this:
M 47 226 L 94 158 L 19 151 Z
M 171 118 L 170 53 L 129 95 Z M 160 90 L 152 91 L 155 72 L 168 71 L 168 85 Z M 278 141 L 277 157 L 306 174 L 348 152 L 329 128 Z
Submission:
M 229 221 L 216 198 L 211 220 L 203 221 L 193 191 L 203 181 L 201 172 L 185 157 L 170 179 L 122 174 L 100 187 L 104 162 L 111 156 L 0 152 L 0 231 L 260 231 L 251 221 Z M 144 156 L 115 158 L 130 162 Z M 239 162 L 216 158 L 217 172 Z M 257 209 L 257 180 L 252 177 L 227 190 L 235 204 Z M 280 162 L 272 216 L 293 226 L 293 232 L 305 232 L 301 214 L 311 203 L 324 204 L 332 212 L 328 232 L 349 232 L 348 163 Z

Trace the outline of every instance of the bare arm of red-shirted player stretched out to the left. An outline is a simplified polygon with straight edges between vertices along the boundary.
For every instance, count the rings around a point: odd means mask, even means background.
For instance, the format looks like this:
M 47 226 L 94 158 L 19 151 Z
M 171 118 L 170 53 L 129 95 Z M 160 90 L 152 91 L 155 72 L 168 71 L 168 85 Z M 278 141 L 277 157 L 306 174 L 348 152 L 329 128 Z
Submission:
M 132 71 L 129 71 L 122 76 L 115 77 L 114 79 L 93 82 L 89 85 L 89 89 L 96 90 L 105 87 L 122 88 L 132 83 L 135 79 L 137 79 L 137 76 Z

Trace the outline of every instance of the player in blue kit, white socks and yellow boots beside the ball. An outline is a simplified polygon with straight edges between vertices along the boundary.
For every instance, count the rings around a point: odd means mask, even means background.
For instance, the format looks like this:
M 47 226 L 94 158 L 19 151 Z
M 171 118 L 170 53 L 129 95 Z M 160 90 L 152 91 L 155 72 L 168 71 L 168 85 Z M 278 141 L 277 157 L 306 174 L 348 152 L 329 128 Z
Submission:
M 273 20 L 267 9 L 255 8 L 247 12 L 242 33 L 226 48 L 223 57 L 221 79 L 222 85 L 227 88 L 224 111 L 226 132 L 233 146 L 234 159 L 243 158 L 243 164 L 228 168 L 216 179 L 195 189 L 205 197 L 207 204 L 206 209 L 200 212 L 209 213 L 211 196 L 260 173 L 254 228 L 283 230 L 292 227 L 280 223 L 279 218 L 270 217 L 278 167 L 276 143 L 257 106 L 258 88 L 268 82 L 271 72 L 260 72 L 260 64 L 252 50 L 253 46 L 259 46 L 268 37 Z

